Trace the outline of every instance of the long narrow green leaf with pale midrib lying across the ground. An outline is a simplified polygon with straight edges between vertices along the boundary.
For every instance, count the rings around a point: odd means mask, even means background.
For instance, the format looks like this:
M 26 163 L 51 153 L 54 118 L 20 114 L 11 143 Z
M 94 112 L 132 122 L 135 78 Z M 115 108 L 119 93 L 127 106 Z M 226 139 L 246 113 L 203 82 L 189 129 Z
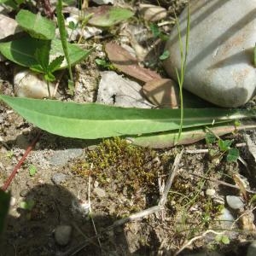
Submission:
M 63 137 L 99 138 L 177 130 L 179 109 L 116 108 L 96 103 L 79 104 L 0 96 L 27 121 Z M 183 128 L 252 117 L 255 111 L 184 109 Z

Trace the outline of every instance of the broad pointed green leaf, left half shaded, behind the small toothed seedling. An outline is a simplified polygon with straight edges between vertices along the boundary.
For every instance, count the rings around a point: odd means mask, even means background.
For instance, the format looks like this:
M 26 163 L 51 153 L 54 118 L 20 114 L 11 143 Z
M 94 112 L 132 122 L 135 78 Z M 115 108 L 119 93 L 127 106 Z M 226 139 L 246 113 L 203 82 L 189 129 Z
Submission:
M 14 61 L 20 66 L 31 67 L 32 65 L 38 64 L 35 53 L 36 50 L 41 49 L 44 44 L 44 40 L 25 37 L 7 43 L 0 43 L 0 51 L 9 61 Z M 74 44 L 67 43 L 67 48 L 72 66 L 90 55 L 90 50 L 80 49 Z M 61 40 L 53 39 L 51 41 L 49 59 L 52 61 L 60 55 L 64 55 Z M 67 68 L 66 60 L 62 61 L 61 67 L 57 69 L 63 68 Z

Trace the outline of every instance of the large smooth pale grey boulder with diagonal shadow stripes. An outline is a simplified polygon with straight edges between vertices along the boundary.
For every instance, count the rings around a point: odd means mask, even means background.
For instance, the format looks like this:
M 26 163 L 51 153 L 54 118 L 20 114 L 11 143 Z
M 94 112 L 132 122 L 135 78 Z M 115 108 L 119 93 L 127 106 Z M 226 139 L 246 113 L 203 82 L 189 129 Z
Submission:
M 190 2 L 189 54 L 183 87 L 221 107 L 238 107 L 254 94 L 256 71 L 256 0 L 198 0 Z M 179 17 L 185 47 L 187 9 Z M 167 73 L 177 79 L 180 50 L 177 28 L 166 44 Z

